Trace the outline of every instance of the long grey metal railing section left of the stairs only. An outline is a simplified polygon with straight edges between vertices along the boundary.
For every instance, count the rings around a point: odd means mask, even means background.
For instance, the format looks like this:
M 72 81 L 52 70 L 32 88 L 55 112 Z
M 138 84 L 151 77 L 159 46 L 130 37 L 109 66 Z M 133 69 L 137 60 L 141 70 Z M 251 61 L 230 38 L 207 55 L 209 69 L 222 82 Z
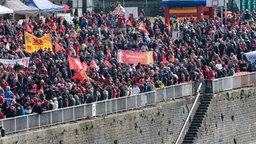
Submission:
M 193 88 L 194 84 L 194 82 L 179 84 L 139 95 L 45 111 L 42 114 L 30 114 L 7 118 L 1 120 L 0 125 L 5 128 L 6 134 L 11 134 L 44 126 L 132 110 L 144 106 L 155 105 L 157 102 L 166 101 L 168 99 L 193 95 L 195 92 Z

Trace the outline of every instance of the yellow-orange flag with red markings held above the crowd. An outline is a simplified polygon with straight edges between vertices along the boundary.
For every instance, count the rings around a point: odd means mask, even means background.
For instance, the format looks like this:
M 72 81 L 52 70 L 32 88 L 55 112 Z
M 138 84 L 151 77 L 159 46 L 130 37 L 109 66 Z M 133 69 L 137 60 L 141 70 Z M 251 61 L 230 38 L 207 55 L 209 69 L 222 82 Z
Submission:
M 46 34 L 43 37 L 36 37 L 28 32 L 24 32 L 25 35 L 25 47 L 28 53 L 37 52 L 38 50 L 51 50 L 52 51 L 52 38 L 50 34 Z

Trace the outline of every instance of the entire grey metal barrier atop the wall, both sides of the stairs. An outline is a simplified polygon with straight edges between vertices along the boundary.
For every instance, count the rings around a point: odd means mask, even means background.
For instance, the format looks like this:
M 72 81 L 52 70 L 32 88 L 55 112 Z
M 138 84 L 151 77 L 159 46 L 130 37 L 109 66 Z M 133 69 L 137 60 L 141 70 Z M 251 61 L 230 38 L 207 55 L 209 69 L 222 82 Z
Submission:
M 256 73 L 248 75 L 232 76 L 215 80 L 205 80 L 200 93 L 216 93 L 251 86 L 255 83 Z M 155 105 L 158 102 L 169 99 L 182 98 L 196 94 L 198 82 L 190 82 L 169 86 L 164 89 L 156 89 L 152 92 L 139 95 L 126 96 L 109 99 L 91 104 L 83 104 L 52 111 L 42 114 L 30 114 L 0 121 L 0 126 L 5 129 L 6 134 L 28 131 L 44 126 L 62 124 L 70 121 L 86 119 L 137 109 L 144 106 Z

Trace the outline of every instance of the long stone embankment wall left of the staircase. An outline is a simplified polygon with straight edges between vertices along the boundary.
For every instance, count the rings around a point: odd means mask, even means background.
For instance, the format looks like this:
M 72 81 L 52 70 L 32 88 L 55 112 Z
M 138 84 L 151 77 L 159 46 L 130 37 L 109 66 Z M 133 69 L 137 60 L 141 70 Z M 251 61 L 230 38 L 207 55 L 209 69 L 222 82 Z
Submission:
M 192 102 L 190 97 L 143 110 L 7 135 L 0 144 L 170 144 L 176 140 Z

